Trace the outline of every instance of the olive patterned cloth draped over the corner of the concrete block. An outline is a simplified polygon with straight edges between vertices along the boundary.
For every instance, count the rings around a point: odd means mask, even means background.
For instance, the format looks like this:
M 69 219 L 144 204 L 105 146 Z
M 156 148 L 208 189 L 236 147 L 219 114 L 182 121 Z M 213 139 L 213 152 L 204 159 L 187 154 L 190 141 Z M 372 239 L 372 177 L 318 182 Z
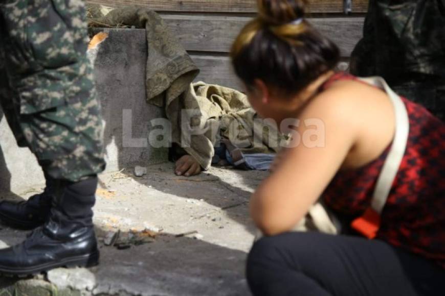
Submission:
M 110 8 L 88 5 L 87 11 L 90 27 L 134 26 L 145 29 L 147 35 L 145 89 L 148 103 L 168 109 L 172 101 L 189 89 L 199 70 L 159 14 L 140 6 Z

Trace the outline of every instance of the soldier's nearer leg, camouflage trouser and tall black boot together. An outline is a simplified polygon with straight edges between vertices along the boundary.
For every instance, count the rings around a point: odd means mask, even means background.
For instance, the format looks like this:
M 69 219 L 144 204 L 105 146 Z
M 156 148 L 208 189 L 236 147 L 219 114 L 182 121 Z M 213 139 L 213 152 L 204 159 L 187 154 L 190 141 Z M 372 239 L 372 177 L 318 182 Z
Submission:
M 96 174 L 105 164 L 100 108 L 86 59 L 84 5 L 9 0 L 0 4 L 0 14 L 7 22 L 6 68 L 19 93 L 20 128 L 53 188 L 48 222 L 20 248 L 0 251 L 0 272 L 23 275 L 96 264 L 92 207 Z M 36 252 L 42 256 L 28 258 Z

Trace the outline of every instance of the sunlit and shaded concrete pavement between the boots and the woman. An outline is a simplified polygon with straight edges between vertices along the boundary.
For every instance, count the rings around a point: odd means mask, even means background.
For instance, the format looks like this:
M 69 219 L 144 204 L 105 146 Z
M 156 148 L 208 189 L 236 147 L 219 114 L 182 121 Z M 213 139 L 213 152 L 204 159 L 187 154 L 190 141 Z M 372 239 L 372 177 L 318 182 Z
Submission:
M 163 163 L 137 178 L 132 169 L 100 176 L 99 266 L 1 278 L 0 295 L 249 295 L 244 264 L 255 228 L 248 200 L 268 173 L 212 168 L 185 178 Z M 9 196 L 30 196 L 41 187 Z M 117 232 L 114 246 L 106 245 Z M 0 240 L 11 245 L 25 235 L 4 228 Z

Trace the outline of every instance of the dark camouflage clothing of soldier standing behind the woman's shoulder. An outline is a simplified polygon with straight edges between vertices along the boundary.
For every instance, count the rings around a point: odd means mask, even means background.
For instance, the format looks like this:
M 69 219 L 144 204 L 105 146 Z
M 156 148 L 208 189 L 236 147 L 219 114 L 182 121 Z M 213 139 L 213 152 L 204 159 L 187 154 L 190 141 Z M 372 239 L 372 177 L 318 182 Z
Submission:
M 351 73 L 379 75 L 445 119 L 445 0 L 370 0 Z

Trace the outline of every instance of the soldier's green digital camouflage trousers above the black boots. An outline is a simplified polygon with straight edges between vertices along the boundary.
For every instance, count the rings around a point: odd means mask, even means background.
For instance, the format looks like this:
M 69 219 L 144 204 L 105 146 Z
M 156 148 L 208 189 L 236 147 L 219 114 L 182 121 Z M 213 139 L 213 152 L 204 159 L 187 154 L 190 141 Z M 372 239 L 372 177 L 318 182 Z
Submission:
M 0 2 L 3 112 L 18 145 L 73 182 L 105 167 L 85 17 L 80 0 Z

